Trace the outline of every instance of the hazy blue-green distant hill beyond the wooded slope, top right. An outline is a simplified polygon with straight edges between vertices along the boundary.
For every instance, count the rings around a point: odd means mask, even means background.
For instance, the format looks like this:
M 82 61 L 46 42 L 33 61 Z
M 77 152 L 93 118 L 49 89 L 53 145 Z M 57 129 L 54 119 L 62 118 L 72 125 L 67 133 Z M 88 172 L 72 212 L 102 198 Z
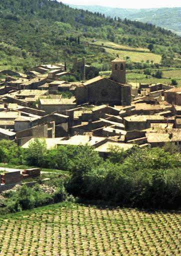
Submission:
M 104 13 L 105 16 L 127 18 L 152 23 L 181 35 L 181 7 L 127 9 L 99 5 L 73 5 L 70 7 Z

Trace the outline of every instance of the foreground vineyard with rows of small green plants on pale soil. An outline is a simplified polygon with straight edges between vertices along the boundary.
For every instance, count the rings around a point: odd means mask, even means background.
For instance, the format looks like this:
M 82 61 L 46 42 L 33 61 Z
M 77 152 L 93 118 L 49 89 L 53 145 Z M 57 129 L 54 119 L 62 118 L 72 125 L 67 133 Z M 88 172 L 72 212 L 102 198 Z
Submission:
M 180 255 L 179 212 L 54 204 L 0 219 L 0 255 Z

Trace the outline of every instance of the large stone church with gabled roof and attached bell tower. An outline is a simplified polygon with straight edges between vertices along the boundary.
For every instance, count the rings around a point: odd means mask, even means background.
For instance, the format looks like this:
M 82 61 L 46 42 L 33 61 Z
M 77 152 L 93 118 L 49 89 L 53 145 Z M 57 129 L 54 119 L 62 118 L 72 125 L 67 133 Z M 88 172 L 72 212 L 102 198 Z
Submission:
M 130 85 L 125 84 L 125 61 L 118 56 L 112 62 L 110 78 L 97 76 L 76 86 L 76 104 L 92 103 L 129 105 L 131 102 Z

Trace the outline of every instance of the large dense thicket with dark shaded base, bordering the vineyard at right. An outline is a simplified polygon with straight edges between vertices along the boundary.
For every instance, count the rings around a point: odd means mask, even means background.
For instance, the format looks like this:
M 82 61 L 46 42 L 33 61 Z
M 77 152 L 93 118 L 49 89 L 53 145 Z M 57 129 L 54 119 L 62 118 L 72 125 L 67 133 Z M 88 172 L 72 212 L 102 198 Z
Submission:
M 92 168 L 72 171 L 68 191 L 131 207 L 180 207 L 181 163 L 176 155 L 160 148 L 136 147 L 127 156 L 122 154 L 123 161 L 120 152 L 120 161 L 118 155 L 111 155 Z

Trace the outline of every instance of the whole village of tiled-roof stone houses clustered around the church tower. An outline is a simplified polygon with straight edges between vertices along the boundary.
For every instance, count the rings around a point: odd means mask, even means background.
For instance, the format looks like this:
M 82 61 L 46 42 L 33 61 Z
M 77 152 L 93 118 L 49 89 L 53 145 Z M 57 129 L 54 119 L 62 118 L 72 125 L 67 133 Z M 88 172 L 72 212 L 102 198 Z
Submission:
M 106 157 L 111 145 L 128 149 L 163 146 L 181 150 L 181 88 L 126 84 L 125 60 L 117 56 L 110 77 L 85 80 L 85 61 L 42 64 L 26 74 L 0 71 L 0 139 L 23 148 L 45 138 L 47 148 L 90 144 Z M 68 82 L 79 71 L 80 81 Z M 67 96 L 68 95 L 68 96 Z

